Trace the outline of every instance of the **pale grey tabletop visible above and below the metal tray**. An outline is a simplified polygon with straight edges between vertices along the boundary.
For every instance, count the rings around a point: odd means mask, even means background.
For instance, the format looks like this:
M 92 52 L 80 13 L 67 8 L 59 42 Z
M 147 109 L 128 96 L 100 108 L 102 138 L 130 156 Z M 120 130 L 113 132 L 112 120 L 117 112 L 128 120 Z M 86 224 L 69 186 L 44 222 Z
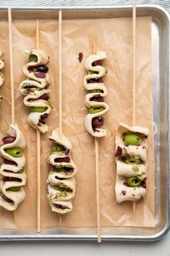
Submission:
M 132 4 L 133 0 L 0 0 L 0 7 L 4 6 L 67 6 L 67 5 L 116 5 L 116 4 Z M 160 4 L 170 12 L 170 0 L 137 0 L 137 4 Z M 0 242 L 0 256 L 34 256 L 34 255 L 134 255 L 134 256 L 170 256 L 169 251 L 170 233 L 161 241 L 157 242 L 105 242 L 96 244 L 96 242 Z

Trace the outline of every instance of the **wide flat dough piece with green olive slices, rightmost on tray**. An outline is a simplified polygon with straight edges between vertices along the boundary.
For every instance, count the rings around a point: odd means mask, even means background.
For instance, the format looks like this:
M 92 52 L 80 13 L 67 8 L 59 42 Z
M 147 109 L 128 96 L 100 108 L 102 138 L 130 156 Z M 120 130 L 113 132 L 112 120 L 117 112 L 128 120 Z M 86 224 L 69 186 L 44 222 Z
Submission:
M 148 128 L 120 123 L 116 131 L 116 201 L 137 201 L 146 194 Z

